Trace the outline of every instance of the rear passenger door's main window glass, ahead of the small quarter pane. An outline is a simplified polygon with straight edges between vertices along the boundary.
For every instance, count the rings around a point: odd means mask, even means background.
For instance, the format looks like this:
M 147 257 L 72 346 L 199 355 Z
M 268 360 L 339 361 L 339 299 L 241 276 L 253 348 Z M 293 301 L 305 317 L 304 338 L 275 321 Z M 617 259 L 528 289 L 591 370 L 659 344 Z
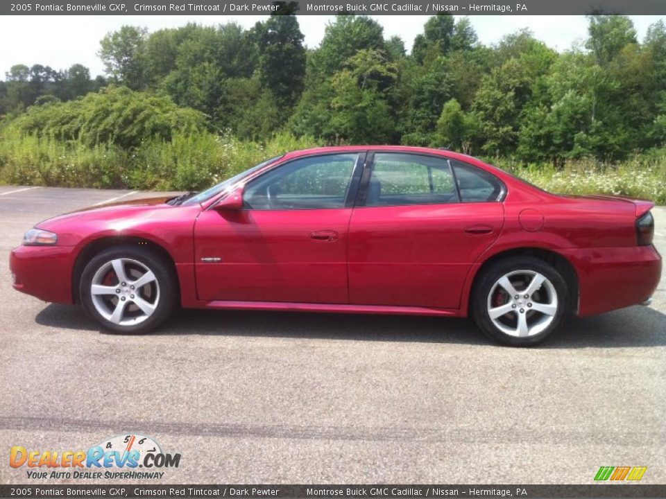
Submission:
M 458 202 L 449 161 L 397 152 L 377 152 L 366 206 Z

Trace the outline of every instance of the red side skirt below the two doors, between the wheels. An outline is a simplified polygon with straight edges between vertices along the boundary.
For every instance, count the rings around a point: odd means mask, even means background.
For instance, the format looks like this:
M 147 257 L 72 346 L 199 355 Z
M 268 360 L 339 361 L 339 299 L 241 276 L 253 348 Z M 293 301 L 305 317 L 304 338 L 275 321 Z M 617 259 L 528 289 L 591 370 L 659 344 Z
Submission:
M 196 308 L 228 310 L 282 310 L 284 312 L 362 313 L 380 315 L 441 315 L 460 317 L 460 310 L 452 308 L 425 308 L 411 306 L 310 304 L 284 301 L 199 301 Z

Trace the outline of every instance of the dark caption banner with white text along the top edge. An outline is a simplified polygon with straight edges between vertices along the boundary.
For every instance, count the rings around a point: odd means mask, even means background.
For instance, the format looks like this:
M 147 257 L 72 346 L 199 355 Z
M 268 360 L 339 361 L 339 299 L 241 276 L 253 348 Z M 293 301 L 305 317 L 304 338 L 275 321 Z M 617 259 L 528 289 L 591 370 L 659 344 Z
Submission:
M 663 0 L 18 0 L 0 2 L 0 15 L 585 15 L 591 13 L 660 15 Z

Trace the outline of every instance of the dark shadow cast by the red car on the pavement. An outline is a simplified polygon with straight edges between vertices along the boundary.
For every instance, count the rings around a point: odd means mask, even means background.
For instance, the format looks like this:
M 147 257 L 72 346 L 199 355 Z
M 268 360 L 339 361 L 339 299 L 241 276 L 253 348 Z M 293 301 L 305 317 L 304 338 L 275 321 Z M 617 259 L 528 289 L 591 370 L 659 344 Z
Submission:
M 75 306 L 50 304 L 37 324 L 101 332 Z M 106 333 L 110 334 L 110 333 Z M 180 310 L 151 336 L 229 335 L 385 342 L 491 344 L 472 321 L 405 315 L 352 315 L 247 310 Z M 666 345 L 666 315 L 634 306 L 596 317 L 572 318 L 541 348 L 657 347 Z

